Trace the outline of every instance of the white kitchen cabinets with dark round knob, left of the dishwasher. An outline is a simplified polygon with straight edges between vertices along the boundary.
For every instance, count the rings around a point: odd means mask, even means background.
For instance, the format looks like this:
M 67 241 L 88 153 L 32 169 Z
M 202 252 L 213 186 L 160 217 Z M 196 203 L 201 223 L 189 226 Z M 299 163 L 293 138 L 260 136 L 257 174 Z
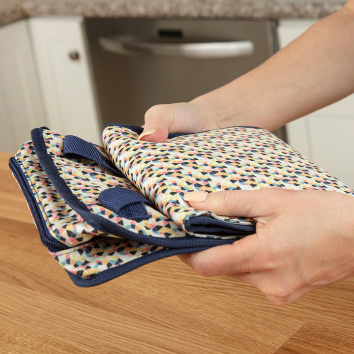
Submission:
M 82 17 L 0 27 L 0 150 L 15 152 L 48 126 L 102 144 Z

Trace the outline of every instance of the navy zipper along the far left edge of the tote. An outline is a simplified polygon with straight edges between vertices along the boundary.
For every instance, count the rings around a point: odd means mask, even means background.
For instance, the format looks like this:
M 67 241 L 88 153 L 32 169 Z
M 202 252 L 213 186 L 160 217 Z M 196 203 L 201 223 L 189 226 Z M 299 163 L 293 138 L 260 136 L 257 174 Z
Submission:
M 37 202 L 34 199 L 32 192 L 29 191 L 29 186 L 27 184 L 28 182 L 23 176 L 23 172 L 14 157 L 10 158 L 9 167 L 14 177 L 16 178 L 18 184 L 20 185 L 22 193 L 26 198 L 27 204 L 29 206 L 29 209 L 32 213 L 32 217 L 34 219 L 34 223 L 37 227 L 39 236 L 44 246 L 46 246 L 50 252 L 58 252 L 70 248 L 67 245 L 59 241 L 54 241 L 53 239 L 49 238 L 49 236 L 47 236 L 48 229 L 44 228 L 43 226 L 42 214 L 37 209 Z

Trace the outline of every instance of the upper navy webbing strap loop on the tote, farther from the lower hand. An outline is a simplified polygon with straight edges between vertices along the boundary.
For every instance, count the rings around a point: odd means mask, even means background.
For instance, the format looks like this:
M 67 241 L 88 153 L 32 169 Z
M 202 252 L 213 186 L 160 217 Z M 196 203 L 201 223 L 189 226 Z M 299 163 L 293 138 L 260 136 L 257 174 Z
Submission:
M 111 170 L 119 177 L 125 176 L 92 143 L 75 135 L 66 135 L 63 143 L 63 155 L 67 158 L 87 158 Z

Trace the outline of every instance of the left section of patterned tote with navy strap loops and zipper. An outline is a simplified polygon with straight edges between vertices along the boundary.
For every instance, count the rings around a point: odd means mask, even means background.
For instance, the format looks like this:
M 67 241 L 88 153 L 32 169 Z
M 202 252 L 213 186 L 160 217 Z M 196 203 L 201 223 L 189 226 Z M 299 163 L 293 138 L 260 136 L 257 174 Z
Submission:
M 31 135 L 9 165 L 42 243 L 76 285 L 237 239 L 187 236 L 120 174 L 104 148 L 47 128 Z

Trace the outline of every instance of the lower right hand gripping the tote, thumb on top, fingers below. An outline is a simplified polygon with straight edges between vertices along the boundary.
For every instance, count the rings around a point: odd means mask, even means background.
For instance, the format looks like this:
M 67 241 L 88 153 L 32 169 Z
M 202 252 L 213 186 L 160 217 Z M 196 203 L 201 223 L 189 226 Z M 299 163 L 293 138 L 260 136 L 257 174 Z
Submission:
M 320 190 L 190 192 L 191 207 L 252 217 L 256 233 L 233 244 L 181 255 L 203 276 L 228 275 L 276 305 L 354 275 L 354 198 Z

